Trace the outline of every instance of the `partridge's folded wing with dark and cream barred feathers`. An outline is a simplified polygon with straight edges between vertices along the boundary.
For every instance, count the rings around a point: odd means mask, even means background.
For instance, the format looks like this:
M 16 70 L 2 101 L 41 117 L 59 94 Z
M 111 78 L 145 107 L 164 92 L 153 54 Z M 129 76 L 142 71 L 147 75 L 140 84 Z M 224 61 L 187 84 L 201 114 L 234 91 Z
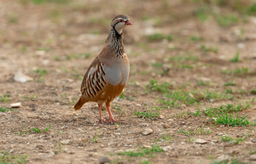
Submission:
M 96 57 L 84 75 L 81 92 L 86 98 L 93 99 L 97 97 L 106 87 L 106 80 L 104 79 L 106 72 L 103 66 L 102 61 Z

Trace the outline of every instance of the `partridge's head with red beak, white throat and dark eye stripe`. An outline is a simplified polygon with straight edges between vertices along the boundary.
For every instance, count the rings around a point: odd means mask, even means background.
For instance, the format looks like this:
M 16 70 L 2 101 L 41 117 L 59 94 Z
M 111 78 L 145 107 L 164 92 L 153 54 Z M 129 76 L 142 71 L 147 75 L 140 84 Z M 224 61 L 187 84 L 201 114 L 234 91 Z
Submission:
M 128 25 L 132 25 L 132 23 L 130 23 L 129 18 L 125 15 L 115 16 L 115 18 L 113 18 L 111 23 L 111 27 L 113 27 L 115 31 L 117 31 L 117 33 L 119 34 L 121 34 L 124 27 Z

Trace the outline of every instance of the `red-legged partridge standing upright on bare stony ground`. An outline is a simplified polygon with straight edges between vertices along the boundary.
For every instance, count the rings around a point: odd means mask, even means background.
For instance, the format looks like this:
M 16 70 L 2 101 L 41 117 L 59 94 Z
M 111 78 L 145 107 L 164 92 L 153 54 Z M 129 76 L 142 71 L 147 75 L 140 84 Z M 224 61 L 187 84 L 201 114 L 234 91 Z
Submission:
M 125 15 L 113 18 L 104 47 L 86 71 L 81 85 L 82 95 L 73 107 L 78 110 L 86 102 L 97 102 L 100 111 L 99 123 L 102 124 L 106 122 L 102 118 L 104 103 L 108 110 L 109 122 L 111 124 L 120 122 L 113 118 L 110 106 L 114 98 L 123 92 L 128 81 L 130 64 L 124 51 L 124 42 L 121 39 L 122 30 L 128 25 L 132 25 L 132 23 Z

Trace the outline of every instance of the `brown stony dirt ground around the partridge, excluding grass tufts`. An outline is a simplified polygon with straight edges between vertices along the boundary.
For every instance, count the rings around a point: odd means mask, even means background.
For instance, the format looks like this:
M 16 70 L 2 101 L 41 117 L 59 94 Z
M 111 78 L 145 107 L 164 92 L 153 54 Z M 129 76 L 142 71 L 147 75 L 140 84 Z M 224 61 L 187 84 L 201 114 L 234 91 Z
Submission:
M 209 11 L 201 13 L 200 8 Z M 218 16 L 230 13 L 238 20 L 222 25 Z M 72 107 L 117 14 L 128 15 L 132 22 L 123 35 L 130 77 L 112 106 L 114 117 L 125 124 L 97 124 L 96 103 L 78 111 Z M 202 113 L 194 116 L 207 107 L 250 103 L 237 114 L 255 122 L 253 14 L 189 0 L 1 0 L 0 18 L 0 163 L 99 163 L 101 156 L 109 163 L 256 163 L 255 126 L 226 126 Z M 236 53 L 239 61 L 232 62 Z M 17 74 L 32 81 L 15 81 Z M 163 105 L 161 100 L 173 98 L 152 90 L 156 84 L 147 87 L 152 79 L 160 86 L 168 83 L 168 92 L 219 95 Z M 21 107 L 9 109 L 14 102 Z M 135 115 L 148 111 L 160 115 Z M 108 118 L 106 110 L 103 115 Z M 142 135 L 146 128 L 153 133 Z M 185 133 L 189 131 L 194 133 Z M 159 152 L 138 155 L 154 146 Z M 8 157 L 3 157 L 5 152 Z

